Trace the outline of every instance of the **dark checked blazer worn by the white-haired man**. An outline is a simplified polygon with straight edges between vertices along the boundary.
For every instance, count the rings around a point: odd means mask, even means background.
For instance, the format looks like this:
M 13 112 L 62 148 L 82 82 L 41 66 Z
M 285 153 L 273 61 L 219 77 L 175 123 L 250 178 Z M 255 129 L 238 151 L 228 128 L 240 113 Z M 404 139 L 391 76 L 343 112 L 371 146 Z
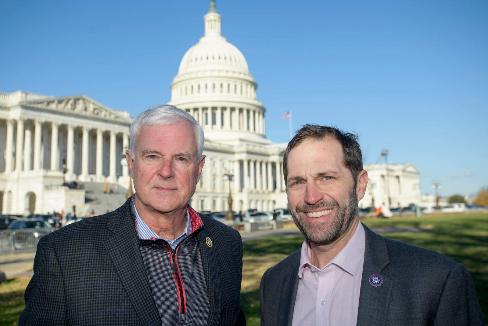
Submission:
M 41 238 L 19 325 L 161 325 L 134 226 L 117 210 Z M 210 302 L 207 325 L 245 325 L 239 232 L 201 215 L 196 237 Z M 212 247 L 205 244 L 210 238 Z

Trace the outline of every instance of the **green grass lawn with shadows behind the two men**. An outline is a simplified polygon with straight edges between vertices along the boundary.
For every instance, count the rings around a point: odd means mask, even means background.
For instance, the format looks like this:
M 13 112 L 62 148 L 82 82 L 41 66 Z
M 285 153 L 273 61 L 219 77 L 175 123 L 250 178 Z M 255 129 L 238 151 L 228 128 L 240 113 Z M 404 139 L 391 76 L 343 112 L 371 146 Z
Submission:
M 365 219 L 368 227 L 418 227 L 431 232 L 385 236 L 440 252 L 468 267 L 488 324 L 488 214 Z M 269 237 L 244 242 L 242 305 L 247 325 L 260 325 L 259 283 L 264 271 L 300 249 L 302 236 Z M 17 325 L 28 277 L 0 285 L 0 326 Z M 284 284 L 285 286 L 285 284 Z

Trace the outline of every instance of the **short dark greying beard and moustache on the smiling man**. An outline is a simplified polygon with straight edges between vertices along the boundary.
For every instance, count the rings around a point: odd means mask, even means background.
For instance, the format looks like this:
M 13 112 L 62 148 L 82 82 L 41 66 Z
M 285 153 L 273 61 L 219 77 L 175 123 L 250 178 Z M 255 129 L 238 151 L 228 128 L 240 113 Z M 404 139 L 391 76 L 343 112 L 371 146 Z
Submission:
M 330 207 L 334 210 L 331 212 L 334 214 L 332 220 L 327 220 L 325 223 L 309 223 L 302 217 L 300 213 L 308 210 L 314 210 L 324 207 Z M 339 203 L 331 199 L 330 201 L 321 200 L 315 205 L 298 205 L 295 211 L 291 211 L 291 216 L 295 221 L 295 224 L 300 229 L 310 243 L 314 245 L 330 244 L 339 239 L 340 236 L 346 233 L 351 226 L 354 218 L 358 214 L 358 197 L 356 195 L 356 185 L 354 185 L 351 192 L 349 192 L 349 202 L 345 205 L 339 205 Z M 330 213 L 329 213 L 330 214 Z

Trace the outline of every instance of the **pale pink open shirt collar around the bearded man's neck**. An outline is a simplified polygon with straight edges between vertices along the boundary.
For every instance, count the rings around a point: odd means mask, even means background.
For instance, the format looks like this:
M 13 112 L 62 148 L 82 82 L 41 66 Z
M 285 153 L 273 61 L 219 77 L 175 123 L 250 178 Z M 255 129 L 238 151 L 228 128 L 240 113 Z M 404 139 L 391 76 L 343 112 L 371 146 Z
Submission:
M 363 224 L 359 222 L 351 239 L 347 241 L 346 246 L 342 248 L 342 250 L 327 265 L 334 264 L 355 277 L 358 274 L 361 261 L 364 260 L 365 241 L 365 230 Z M 304 243 L 302 244 L 300 268 L 298 269 L 298 277 L 300 279 L 303 276 L 305 266 L 307 264 L 309 266 L 313 266 L 310 262 L 311 254 L 312 249 L 310 248 L 310 244 L 308 243 L 307 239 L 305 239 Z M 327 265 L 325 265 L 324 268 Z M 324 268 L 322 270 L 324 270 Z

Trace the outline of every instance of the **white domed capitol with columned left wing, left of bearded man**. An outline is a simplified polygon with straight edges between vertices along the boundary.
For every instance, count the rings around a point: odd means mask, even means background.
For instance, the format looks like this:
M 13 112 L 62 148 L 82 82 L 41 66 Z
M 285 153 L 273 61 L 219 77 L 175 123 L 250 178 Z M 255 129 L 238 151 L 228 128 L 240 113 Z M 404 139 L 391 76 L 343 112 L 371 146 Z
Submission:
M 265 136 L 265 108 L 244 55 L 221 33 L 212 0 L 205 32 L 183 56 L 168 104 L 202 125 L 206 155 L 190 205 L 197 211 L 260 211 L 287 206 L 283 177 L 286 144 Z M 128 112 L 84 95 L 52 97 L 0 92 L 0 211 L 87 213 L 83 187 L 130 184 Z M 76 182 L 76 183 L 75 183 Z M 116 207 L 114 207 L 116 208 Z

